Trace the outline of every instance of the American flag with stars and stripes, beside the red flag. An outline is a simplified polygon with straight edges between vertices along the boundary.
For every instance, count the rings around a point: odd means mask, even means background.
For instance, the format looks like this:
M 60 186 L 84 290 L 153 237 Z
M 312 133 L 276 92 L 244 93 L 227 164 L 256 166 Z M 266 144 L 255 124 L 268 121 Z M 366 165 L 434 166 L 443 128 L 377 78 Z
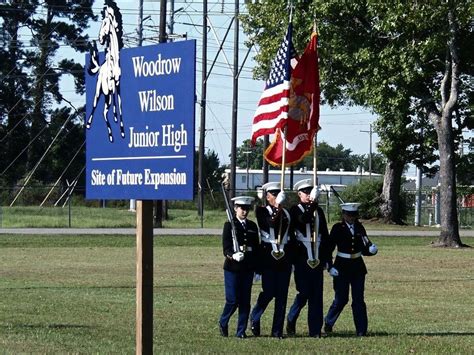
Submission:
M 277 128 L 282 128 L 286 124 L 290 97 L 291 59 L 296 56 L 291 36 L 290 23 L 286 36 L 273 59 L 265 90 L 253 117 L 252 144 L 255 144 L 258 137 L 272 134 Z

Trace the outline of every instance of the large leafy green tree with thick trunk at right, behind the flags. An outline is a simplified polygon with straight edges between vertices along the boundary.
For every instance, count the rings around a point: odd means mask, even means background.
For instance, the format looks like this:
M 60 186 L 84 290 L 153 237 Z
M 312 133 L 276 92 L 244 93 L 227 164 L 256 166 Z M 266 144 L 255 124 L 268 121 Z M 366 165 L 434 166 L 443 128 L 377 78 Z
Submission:
M 400 185 L 397 177 L 410 161 L 407 148 L 413 144 L 405 137 L 406 129 L 395 128 L 412 128 L 403 123 L 422 112 L 434 124 L 442 185 L 439 241 L 441 245 L 461 246 L 453 164 L 457 132 L 452 120 L 454 109 L 464 106 L 462 98 L 474 85 L 472 1 L 393 4 L 313 0 L 296 5 L 296 29 L 310 28 L 315 17 L 318 21 L 325 102 L 363 105 L 381 117 L 383 127 L 393 124 L 386 132 L 393 148 L 391 155 L 386 154 L 392 171 L 389 186 Z M 260 46 L 257 75 L 268 72 L 281 38 L 275 33 L 286 25 L 285 19 L 278 17 L 285 6 L 286 1 L 248 6 L 249 15 L 243 22 Z M 300 49 L 309 36 L 303 32 L 294 38 Z M 465 125 L 465 112 L 464 107 L 459 110 L 458 128 Z

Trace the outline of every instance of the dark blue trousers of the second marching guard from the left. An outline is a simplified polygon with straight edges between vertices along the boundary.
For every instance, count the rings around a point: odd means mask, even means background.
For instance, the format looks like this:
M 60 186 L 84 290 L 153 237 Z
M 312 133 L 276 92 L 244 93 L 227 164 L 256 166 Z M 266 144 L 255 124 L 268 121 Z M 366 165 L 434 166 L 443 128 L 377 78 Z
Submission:
M 257 303 L 252 310 L 252 322 L 260 322 L 263 312 L 273 298 L 275 310 L 273 313 L 272 336 L 283 335 L 286 302 L 290 286 L 291 268 L 283 271 L 264 270 L 262 272 L 262 292 L 258 295 Z

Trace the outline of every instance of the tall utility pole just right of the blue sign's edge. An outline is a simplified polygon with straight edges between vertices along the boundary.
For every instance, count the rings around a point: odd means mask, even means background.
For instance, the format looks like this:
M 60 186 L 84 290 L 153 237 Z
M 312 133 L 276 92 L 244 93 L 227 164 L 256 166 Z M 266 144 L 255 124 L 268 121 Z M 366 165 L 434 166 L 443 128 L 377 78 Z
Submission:
M 199 127 L 198 214 L 204 227 L 204 146 L 206 143 L 207 93 L 207 0 L 202 2 L 202 70 L 201 70 L 201 124 Z

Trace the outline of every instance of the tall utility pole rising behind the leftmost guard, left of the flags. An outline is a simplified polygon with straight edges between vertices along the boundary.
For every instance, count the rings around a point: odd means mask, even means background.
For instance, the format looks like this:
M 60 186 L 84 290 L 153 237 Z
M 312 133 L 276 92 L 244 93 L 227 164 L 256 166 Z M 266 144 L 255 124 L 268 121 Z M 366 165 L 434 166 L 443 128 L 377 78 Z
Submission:
M 234 10 L 234 83 L 232 85 L 232 142 L 230 152 L 230 196 L 235 196 L 235 170 L 237 156 L 237 110 L 239 100 L 239 0 L 235 0 Z

